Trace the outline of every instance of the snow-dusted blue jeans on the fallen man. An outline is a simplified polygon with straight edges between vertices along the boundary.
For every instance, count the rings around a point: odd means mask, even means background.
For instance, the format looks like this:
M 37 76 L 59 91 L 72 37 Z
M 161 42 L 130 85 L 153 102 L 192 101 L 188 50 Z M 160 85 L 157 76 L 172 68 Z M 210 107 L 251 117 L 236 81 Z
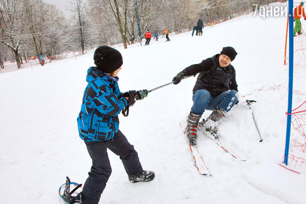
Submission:
M 217 106 L 228 112 L 238 101 L 238 94 L 235 90 L 229 90 L 215 97 L 206 89 L 199 89 L 193 94 L 192 100 L 192 113 L 202 115 L 205 110 L 214 110 Z

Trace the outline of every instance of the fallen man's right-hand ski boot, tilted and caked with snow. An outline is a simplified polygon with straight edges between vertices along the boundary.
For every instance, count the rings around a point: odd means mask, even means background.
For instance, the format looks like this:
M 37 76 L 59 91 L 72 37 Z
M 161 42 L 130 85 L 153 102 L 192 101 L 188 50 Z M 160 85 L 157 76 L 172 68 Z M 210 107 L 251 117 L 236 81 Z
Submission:
M 227 112 L 225 110 L 219 109 L 217 106 L 206 120 L 203 119 L 199 123 L 199 128 L 205 128 L 206 131 L 210 132 L 210 134 L 213 135 L 216 140 L 218 140 L 218 127 L 216 122 L 224 118 L 226 113 Z

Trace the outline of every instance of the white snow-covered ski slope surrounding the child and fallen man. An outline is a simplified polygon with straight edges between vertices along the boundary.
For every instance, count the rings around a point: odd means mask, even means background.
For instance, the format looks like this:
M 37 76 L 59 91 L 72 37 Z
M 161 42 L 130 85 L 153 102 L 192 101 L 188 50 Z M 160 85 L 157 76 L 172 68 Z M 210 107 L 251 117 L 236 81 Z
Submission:
M 120 130 L 137 150 L 145 170 L 156 177 L 147 183 L 129 182 L 119 157 L 109 151 L 112 174 L 100 203 L 292 203 L 306 202 L 306 167 L 282 164 L 288 66 L 283 65 L 286 17 L 235 18 L 205 27 L 202 36 L 191 32 L 170 35 L 170 42 L 151 40 L 150 46 L 119 47 L 122 92 L 153 89 L 168 83 L 185 67 L 233 46 L 239 103 L 219 125 L 226 147 L 246 161 L 234 159 L 199 134 L 197 147 L 213 176 L 200 175 L 179 123 L 192 106 L 195 77 L 149 93 L 120 114 Z M 154 33 L 154 31 L 152 31 Z M 58 188 L 65 177 L 85 182 L 91 159 L 79 138 L 80 111 L 86 73 L 93 53 L 45 66 L 0 74 L 0 174 L 2 203 L 59 203 Z M 306 93 L 305 71 L 294 71 L 294 89 Z M 245 97 L 243 97 L 245 96 Z M 245 100 L 252 110 L 263 143 Z M 305 95 L 293 95 L 293 108 Z M 206 118 L 211 111 L 206 111 Z M 292 130 L 292 138 L 300 136 Z

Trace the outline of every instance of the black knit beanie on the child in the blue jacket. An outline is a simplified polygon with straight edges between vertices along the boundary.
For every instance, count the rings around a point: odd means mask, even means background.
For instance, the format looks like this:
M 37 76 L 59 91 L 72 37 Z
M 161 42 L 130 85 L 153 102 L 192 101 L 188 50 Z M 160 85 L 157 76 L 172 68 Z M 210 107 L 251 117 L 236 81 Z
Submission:
M 95 50 L 94 61 L 98 69 L 104 73 L 112 73 L 123 64 L 120 52 L 106 45 Z

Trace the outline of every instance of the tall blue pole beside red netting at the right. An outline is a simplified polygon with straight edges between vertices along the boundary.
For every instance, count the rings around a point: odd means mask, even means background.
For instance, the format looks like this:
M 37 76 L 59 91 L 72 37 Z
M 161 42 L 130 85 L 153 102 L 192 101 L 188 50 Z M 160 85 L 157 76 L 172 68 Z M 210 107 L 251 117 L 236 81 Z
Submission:
M 289 0 L 289 86 L 288 86 L 288 109 L 287 109 L 287 131 L 285 144 L 284 163 L 288 165 L 291 111 L 292 111 L 292 91 L 293 91 L 293 0 Z

